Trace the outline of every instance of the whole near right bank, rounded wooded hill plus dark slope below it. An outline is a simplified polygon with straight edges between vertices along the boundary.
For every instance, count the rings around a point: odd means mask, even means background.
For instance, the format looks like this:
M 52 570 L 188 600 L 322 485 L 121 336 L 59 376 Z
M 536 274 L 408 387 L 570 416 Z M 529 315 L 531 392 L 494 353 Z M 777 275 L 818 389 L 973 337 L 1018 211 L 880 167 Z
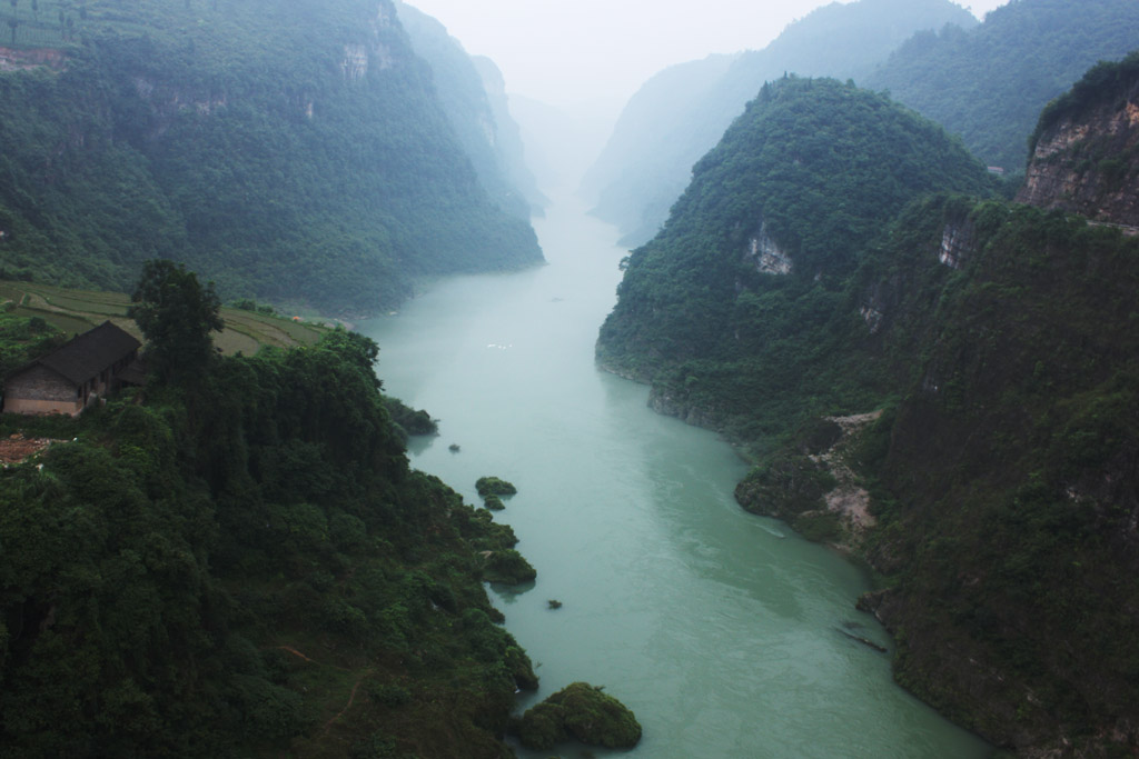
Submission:
M 890 178 L 970 195 L 985 181 L 953 142 L 940 175 L 911 166 L 896 106 L 851 90 L 865 105 L 838 107 L 842 85 L 808 84 L 770 88 L 697 165 L 629 259 L 599 360 L 652 380 L 656 407 L 751 444 L 745 508 L 882 572 L 862 605 L 893 632 L 906 687 L 1025 757 L 1126 756 L 1139 745 L 1139 238 L 960 195 L 878 208 L 892 180 L 867 171 L 874 149 L 838 150 L 835 130 L 880 141 Z M 1038 134 L 1068 125 L 1114 145 L 1134 92 L 1132 60 L 1097 67 Z M 826 143 L 853 156 L 843 192 L 802 176 Z M 1114 159 L 1113 176 L 1136 175 L 1133 151 Z M 1062 199 L 1051 187 L 1033 201 Z

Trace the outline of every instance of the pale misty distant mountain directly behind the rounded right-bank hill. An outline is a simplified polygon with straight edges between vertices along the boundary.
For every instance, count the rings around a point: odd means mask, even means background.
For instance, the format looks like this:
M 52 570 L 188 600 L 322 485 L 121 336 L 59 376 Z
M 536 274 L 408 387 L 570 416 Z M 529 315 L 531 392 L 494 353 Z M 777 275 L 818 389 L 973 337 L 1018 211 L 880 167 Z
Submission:
M 590 170 L 583 190 L 597 203 L 593 213 L 616 224 L 624 244 L 647 241 L 683 192 L 693 164 L 764 82 L 785 73 L 861 79 L 913 32 L 950 23 L 976 19 L 949 0 L 833 2 L 787 26 L 767 48 L 735 57 L 722 73 L 722 58 L 662 73 L 630 101 L 611 147 Z M 663 86 L 681 79 L 678 93 Z

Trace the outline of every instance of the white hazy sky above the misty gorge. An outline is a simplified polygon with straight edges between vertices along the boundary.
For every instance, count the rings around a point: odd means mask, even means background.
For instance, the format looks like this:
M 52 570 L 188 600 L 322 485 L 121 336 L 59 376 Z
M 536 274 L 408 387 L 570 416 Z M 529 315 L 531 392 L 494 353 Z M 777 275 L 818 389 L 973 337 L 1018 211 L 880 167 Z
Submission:
M 626 100 L 666 66 L 756 50 L 829 0 L 405 0 L 467 52 L 487 56 L 507 90 L 557 106 Z M 974 15 L 1007 0 L 958 0 Z M 697 6 L 699 10 L 696 10 Z

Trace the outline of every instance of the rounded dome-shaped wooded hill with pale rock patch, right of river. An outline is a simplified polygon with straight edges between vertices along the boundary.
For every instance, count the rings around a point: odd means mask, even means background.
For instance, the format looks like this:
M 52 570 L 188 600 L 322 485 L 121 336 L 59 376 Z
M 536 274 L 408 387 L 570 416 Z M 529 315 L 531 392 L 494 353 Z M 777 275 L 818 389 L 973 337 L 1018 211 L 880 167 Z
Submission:
M 831 360 L 851 323 L 847 279 L 913 198 L 989 187 L 941 127 L 883 96 L 767 85 L 630 256 L 598 358 L 652 381 L 657 407 L 736 438 L 859 405 L 865 372 Z

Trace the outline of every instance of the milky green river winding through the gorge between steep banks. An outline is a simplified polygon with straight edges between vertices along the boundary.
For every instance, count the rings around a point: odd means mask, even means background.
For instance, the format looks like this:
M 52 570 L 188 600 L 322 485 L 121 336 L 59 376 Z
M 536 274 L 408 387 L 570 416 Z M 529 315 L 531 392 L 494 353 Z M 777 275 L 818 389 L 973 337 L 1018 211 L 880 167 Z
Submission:
M 470 503 L 484 475 L 518 487 L 495 519 L 538 579 L 491 596 L 542 680 L 522 707 L 605 685 L 645 728 L 622 756 L 653 759 L 989 756 L 841 632 L 890 645 L 854 609 L 862 570 L 740 510 L 730 446 L 595 366 L 621 278 L 615 231 L 573 201 L 534 226 L 549 265 L 440 280 L 359 327 L 379 343 L 385 389 L 441 419 L 412 464 Z

